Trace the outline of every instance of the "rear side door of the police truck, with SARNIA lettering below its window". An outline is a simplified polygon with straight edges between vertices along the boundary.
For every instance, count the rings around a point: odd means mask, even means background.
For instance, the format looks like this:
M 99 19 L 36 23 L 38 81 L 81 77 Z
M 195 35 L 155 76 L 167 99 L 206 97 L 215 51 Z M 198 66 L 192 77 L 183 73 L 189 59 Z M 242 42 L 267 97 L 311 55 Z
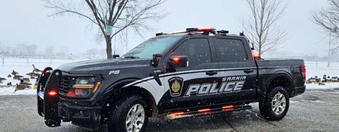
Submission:
M 224 102 L 244 102 L 256 97 L 256 65 L 244 38 L 215 37 Z

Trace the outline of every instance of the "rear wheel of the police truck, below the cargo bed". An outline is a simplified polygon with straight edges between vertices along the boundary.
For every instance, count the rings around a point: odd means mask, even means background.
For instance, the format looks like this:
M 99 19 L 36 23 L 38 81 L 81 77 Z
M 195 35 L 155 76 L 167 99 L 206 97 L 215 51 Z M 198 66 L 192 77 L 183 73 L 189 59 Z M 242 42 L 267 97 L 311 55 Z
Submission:
M 290 106 L 290 98 L 288 96 L 287 91 L 283 87 L 278 86 L 272 89 L 265 100 L 259 103 L 261 115 L 271 121 L 278 121 L 284 118 Z M 285 100 L 283 100 L 283 97 Z

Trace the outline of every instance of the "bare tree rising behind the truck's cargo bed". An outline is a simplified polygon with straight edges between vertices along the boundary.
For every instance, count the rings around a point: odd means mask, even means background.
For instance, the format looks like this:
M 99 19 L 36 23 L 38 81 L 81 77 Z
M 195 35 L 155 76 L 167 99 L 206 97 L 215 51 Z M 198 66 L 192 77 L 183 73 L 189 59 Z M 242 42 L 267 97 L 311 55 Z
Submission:
M 287 31 L 276 22 L 284 15 L 287 3 L 282 0 L 246 0 L 251 14 L 238 19 L 246 36 L 255 44 L 259 55 L 285 46 Z

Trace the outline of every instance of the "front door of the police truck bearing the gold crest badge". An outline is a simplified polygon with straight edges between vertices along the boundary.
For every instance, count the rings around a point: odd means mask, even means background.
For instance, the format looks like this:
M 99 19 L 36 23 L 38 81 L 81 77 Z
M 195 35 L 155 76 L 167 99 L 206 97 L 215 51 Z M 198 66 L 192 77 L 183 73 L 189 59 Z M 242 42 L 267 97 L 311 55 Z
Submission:
M 167 61 L 173 56 L 188 56 L 189 63 L 187 67 L 175 68 L 174 71 L 164 70 L 165 94 L 159 102 L 160 111 L 210 105 L 207 94 L 220 77 L 211 41 L 208 36 L 187 37 L 164 57 Z M 199 89 L 200 86 L 203 88 Z

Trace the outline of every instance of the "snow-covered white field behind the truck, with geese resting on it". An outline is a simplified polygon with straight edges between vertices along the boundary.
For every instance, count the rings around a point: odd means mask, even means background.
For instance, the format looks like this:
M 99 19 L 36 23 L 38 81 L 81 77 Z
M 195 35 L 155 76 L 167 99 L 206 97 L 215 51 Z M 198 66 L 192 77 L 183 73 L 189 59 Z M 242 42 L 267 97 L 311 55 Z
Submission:
M 13 78 L 7 78 L 8 74 L 11 74 L 12 70 L 15 70 L 19 73 L 19 75 L 24 76 L 25 78 L 29 78 L 30 76 L 25 75 L 26 73 L 33 71 L 34 64 L 36 68 L 43 70 L 45 67 L 57 68 L 59 65 L 63 63 L 71 63 L 72 60 L 53 60 L 55 63 L 49 64 L 49 60 L 32 60 L 32 63 L 26 64 L 26 62 L 21 61 L 20 63 L 16 62 L 17 60 L 13 60 L 14 63 L 5 63 L 0 64 L 0 78 L 5 78 L 7 80 L 3 80 L 2 84 L 0 84 L 0 95 L 18 95 L 18 94 L 36 94 L 36 90 L 33 90 L 33 85 L 35 84 L 35 80 L 31 79 L 31 87 L 32 89 L 19 90 L 14 93 L 14 86 L 6 86 L 7 83 L 12 82 L 12 85 L 19 84 L 20 81 L 14 80 Z M 36 63 L 33 63 L 36 62 Z M 40 63 L 39 63 L 40 62 Z M 307 63 L 306 63 L 307 64 Z M 322 78 L 323 74 L 327 76 L 339 76 L 339 67 L 327 68 L 327 67 L 307 67 L 306 65 L 306 76 L 307 79 L 318 76 L 318 78 Z M 5 86 L 4 86 L 5 85 Z M 326 89 L 326 88 L 339 88 L 339 83 L 326 83 L 325 86 L 319 86 L 316 84 L 306 84 L 307 89 Z

